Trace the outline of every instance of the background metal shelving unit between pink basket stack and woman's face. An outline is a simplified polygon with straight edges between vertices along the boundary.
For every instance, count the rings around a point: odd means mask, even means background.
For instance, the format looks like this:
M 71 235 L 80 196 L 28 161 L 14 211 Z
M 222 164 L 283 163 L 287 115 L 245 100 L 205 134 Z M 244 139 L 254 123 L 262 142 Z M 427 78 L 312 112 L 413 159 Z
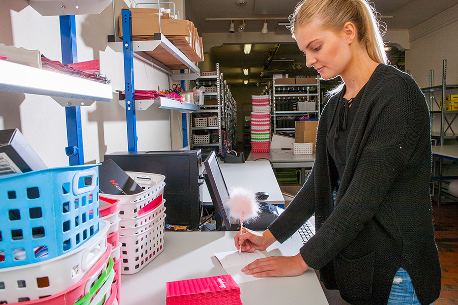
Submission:
M 290 89 L 298 90 L 298 92 L 289 92 Z M 316 88 L 317 93 L 310 93 L 310 90 Z M 282 90 L 287 91 L 287 93 L 282 93 Z M 272 91 L 272 94 L 270 92 Z M 320 79 L 317 78 L 317 84 L 276 84 L 275 77 L 272 80 L 272 88 L 266 87 L 264 93 L 269 92 L 269 97 L 271 98 L 271 109 L 272 109 L 272 126 L 273 132 L 287 132 L 289 134 L 294 133 L 295 129 L 291 128 L 279 128 L 277 127 L 278 117 L 286 116 L 304 116 L 306 114 L 314 113 L 317 116 L 317 119 L 320 119 L 321 114 L 321 103 L 320 103 Z M 299 111 L 299 110 L 288 110 L 288 111 L 277 111 L 276 103 L 282 99 L 292 100 L 293 103 L 298 101 L 310 101 L 311 97 L 316 97 L 317 99 L 317 110 L 310 111 Z M 287 103 L 290 103 L 288 101 Z

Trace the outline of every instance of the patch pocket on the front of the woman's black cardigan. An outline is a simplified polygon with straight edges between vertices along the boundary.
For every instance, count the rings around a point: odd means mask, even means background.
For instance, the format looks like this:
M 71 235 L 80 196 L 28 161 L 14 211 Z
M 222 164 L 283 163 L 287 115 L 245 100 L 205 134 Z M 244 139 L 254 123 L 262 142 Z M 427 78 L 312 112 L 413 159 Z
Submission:
M 372 295 L 374 263 L 375 252 L 352 260 L 337 254 L 334 269 L 340 294 L 352 299 L 369 299 Z

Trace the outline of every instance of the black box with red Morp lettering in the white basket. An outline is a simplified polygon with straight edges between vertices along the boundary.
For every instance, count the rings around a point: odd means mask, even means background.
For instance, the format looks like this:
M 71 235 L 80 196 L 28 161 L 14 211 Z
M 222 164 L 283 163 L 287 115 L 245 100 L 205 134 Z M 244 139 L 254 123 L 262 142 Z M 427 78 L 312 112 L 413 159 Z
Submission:
M 108 159 L 99 166 L 99 192 L 111 195 L 138 194 L 144 190 L 115 161 Z

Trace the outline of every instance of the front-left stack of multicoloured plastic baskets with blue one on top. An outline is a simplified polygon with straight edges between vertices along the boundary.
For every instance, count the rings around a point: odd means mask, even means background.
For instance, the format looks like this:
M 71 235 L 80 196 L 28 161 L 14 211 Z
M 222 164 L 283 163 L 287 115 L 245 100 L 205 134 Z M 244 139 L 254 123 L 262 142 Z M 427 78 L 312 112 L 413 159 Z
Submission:
M 0 178 L 0 303 L 113 305 L 97 166 Z

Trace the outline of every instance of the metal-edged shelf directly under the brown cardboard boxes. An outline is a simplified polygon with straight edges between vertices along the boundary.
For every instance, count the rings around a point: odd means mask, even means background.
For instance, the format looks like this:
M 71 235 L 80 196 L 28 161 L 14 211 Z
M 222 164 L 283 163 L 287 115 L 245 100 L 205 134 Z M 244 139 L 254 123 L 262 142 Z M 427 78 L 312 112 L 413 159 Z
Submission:
M 108 42 L 108 46 L 116 52 L 123 52 L 124 42 L 115 41 Z M 144 60 L 146 63 L 152 64 L 153 66 L 159 68 L 160 70 L 166 72 L 174 80 L 191 80 L 196 79 L 201 75 L 201 70 L 194 65 L 194 63 L 189 60 L 186 55 L 184 55 L 173 43 L 171 43 L 164 35 L 161 33 L 154 34 L 154 40 L 145 40 L 145 41 L 132 41 L 132 50 L 136 52 L 139 56 L 139 59 Z M 186 69 L 190 69 L 192 73 L 174 73 L 174 70 L 162 64 L 158 60 L 154 59 L 152 56 L 145 54 L 144 52 L 153 52 L 157 51 L 164 56 L 164 51 L 169 57 L 175 57 L 177 62 L 186 66 Z M 173 65 L 175 66 L 175 65 Z M 184 68 L 183 68 L 184 69 Z

